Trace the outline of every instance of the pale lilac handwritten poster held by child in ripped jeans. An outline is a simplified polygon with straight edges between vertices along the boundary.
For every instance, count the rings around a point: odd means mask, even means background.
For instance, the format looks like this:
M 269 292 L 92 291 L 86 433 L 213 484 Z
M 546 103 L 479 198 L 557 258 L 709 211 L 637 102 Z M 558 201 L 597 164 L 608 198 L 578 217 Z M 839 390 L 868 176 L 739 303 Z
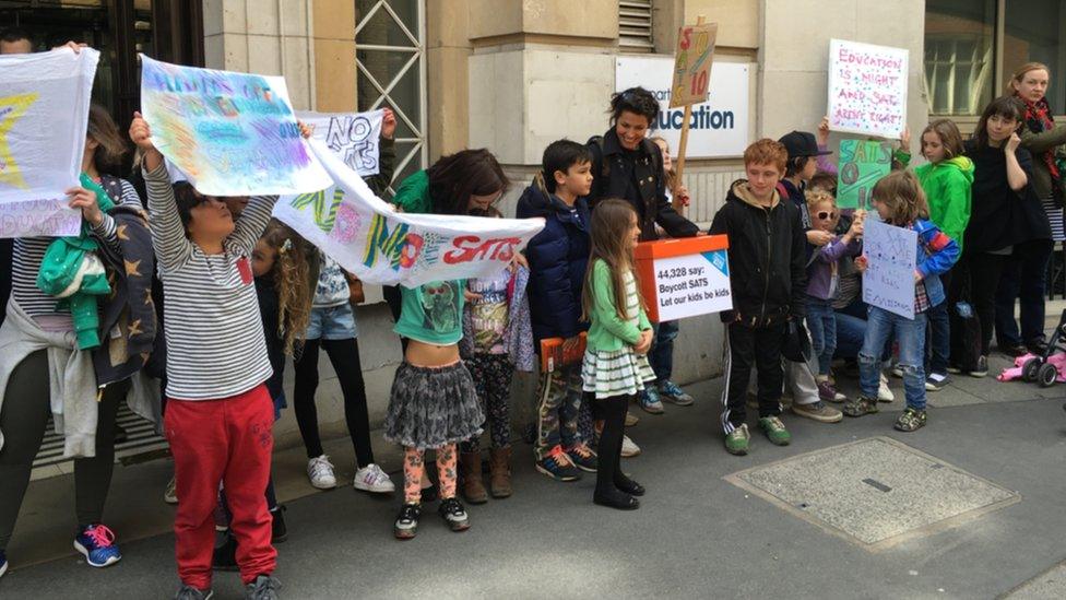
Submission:
M 863 302 L 914 318 L 917 233 L 867 219 L 863 230 Z

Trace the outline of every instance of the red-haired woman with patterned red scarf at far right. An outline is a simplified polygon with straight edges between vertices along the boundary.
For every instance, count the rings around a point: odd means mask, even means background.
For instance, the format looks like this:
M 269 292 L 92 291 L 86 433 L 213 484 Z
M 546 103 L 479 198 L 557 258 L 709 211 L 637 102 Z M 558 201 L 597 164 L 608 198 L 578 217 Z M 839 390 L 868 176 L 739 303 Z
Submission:
M 1047 260 L 1056 242 L 1066 240 L 1063 207 L 1066 205 L 1063 169 L 1066 168 L 1066 125 L 1055 125 L 1044 94 L 1051 70 L 1041 62 L 1027 62 L 1015 71 L 1008 84 L 1026 107 L 1018 132 L 1021 148 L 1032 154 L 1033 191 L 1047 215 L 1051 239 L 1018 244 L 1003 268 L 996 296 L 996 340 L 1010 354 L 1028 351 L 1042 354 L 1044 341 L 1044 291 Z M 1015 301 L 1021 301 L 1021 330 L 1015 321 Z M 1024 352 L 1022 352 L 1024 353 Z

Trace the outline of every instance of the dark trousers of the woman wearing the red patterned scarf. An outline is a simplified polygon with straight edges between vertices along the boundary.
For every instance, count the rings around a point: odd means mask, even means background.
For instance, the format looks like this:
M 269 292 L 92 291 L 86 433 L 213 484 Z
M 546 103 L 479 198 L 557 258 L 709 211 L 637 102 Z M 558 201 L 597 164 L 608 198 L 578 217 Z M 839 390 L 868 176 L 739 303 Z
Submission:
M 999 348 L 1044 339 L 1044 289 L 1047 260 L 1055 248 L 1051 239 L 1015 245 L 1007 257 L 996 291 L 996 343 Z M 1021 332 L 1015 321 L 1015 299 L 1021 302 Z

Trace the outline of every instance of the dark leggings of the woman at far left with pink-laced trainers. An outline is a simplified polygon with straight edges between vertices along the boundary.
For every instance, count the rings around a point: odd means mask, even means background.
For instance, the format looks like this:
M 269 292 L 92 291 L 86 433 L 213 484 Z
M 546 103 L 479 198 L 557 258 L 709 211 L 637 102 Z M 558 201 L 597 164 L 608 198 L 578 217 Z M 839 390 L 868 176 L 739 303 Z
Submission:
M 96 421 L 96 456 L 74 459 L 74 513 L 79 526 L 103 520 L 115 469 L 115 417 L 129 389 L 129 379 L 104 388 Z M 48 351 L 38 350 L 19 363 L 8 378 L 8 390 L 11 393 L 4 393 L 0 411 L 0 431 L 4 435 L 0 450 L 0 552 L 11 541 L 33 461 L 48 426 Z

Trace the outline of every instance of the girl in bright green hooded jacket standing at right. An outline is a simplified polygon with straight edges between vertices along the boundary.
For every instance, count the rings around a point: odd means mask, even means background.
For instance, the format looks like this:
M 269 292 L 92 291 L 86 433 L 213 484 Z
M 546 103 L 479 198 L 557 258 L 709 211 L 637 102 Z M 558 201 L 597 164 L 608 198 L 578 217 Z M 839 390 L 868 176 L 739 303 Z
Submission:
M 914 169 L 929 203 L 929 221 L 959 245 L 970 222 L 970 186 L 973 162 L 962 155 L 962 134 L 950 119 L 936 119 L 922 131 L 922 155 L 928 163 Z M 948 311 L 959 299 L 960 281 L 952 284 L 949 273 L 941 278 L 947 299 L 929 308 L 929 373 L 925 389 L 937 391 L 948 381 L 951 326 Z M 962 274 L 962 277 L 966 277 Z

